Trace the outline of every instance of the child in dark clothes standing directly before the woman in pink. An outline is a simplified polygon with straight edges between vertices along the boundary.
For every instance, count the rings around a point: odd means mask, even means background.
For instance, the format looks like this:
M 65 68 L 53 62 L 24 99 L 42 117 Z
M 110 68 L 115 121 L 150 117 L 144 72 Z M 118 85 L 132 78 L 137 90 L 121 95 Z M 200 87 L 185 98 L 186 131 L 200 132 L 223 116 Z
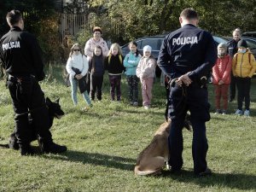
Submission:
M 92 101 L 95 99 L 95 92 L 97 90 L 97 99 L 102 101 L 102 83 L 104 75 L 104 59 L 102 55 L 102 47 L 96 45 L 93 55 L 89 60 L 89 73 L 90 73 L 90 98 Z

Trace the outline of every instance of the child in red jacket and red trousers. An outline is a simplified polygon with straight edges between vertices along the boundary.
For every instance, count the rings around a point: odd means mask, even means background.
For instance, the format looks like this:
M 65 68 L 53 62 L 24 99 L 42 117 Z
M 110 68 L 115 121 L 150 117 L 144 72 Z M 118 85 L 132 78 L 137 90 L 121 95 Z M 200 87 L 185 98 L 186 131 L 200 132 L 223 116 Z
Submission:
M 212 67 L 212 84 L 214 86 L 216 114 L 227 113 L 231 67 L 232 59 L 230 55 L 227 55 L 227 44 L 218 44 L 218 59 L 214 67 Z M 220 108 L 221 98 L 223 101 L 222 109 Z

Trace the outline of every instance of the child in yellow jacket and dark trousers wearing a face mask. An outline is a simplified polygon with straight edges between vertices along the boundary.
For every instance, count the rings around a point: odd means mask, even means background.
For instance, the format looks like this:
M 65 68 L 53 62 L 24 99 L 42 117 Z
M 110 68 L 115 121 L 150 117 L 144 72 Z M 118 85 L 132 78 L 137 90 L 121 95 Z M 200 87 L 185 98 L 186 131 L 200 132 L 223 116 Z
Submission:
M 236 78 L 237 110 L 235 114 L 242 115 L 242 102 L 245 101 L 245 116 L 250 116 L 250 89 L 251 79 L 256 70 L 256 61 L 249 49 L 247 42 L 241 39 L 237 43 L 238 51 L 233 57 L 232 72 Z

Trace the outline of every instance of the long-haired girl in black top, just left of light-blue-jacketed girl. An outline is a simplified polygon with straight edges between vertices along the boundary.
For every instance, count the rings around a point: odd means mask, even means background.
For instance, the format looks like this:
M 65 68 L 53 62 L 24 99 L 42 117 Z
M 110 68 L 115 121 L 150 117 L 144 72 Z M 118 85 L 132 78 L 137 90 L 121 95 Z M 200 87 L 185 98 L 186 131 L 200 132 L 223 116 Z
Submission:
M 105 68 L 108 70 L 110 82 L 111 101 L 114 101 L 114 91 L 116 90 L 117 101 L 121 101 L 121 77 L 125 67 L 123 65 L 123 56 L 119 44 L 112 44 L 108 56 L 105 59 Z

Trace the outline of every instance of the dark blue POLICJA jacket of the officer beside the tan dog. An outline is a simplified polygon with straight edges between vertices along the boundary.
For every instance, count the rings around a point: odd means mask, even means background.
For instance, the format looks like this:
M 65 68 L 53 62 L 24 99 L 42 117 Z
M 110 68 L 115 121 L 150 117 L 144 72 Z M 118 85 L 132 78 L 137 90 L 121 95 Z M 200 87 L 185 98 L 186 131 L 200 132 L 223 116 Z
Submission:
M 166 36 L 158 65 L 172 79 L 191 72 L 189 78 L 197 81 L 207 76 L 216 60 L 217 49 L 212 35 L 188 24 Z

